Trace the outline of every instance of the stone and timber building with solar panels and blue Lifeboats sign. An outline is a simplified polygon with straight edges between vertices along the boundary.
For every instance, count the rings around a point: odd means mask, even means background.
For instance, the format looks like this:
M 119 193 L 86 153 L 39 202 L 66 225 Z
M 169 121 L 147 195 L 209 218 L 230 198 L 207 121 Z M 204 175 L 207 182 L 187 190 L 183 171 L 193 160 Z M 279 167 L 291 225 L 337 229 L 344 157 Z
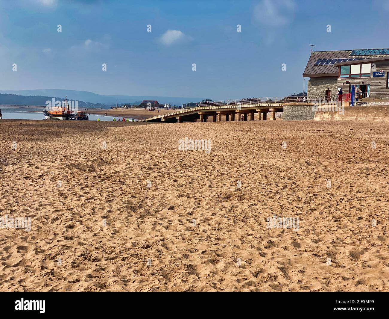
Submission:
M 313 51 L 303 73 L 308 77 L 308 97 L 333 100 L 340 88 L 359 98 L 389 97 L 389 49 Z

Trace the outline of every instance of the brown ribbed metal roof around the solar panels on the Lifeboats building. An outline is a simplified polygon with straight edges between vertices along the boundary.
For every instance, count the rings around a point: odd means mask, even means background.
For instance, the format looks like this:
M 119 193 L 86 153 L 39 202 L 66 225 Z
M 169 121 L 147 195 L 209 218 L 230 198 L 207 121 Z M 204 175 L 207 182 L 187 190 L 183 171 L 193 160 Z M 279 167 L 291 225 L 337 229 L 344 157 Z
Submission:
M 363 51 L 363 50 L 358 50 Z M 376 51 L 377 52 L 377 51 Z M 342 51 L 314 51 L 308 60 L 307 66 L 305 67 L 303 78 L 306 77 L 319 77 L 319 76 L 338 76 L 339 65 L 355 64 L 354 62 L 343 62 L 335 63 L 334 65 L 315 65 L 315 62 L 319 59 L 344 59 L 344 58 L 355 58 L 356 56 L 350 56 L 352 53 L 356 53 L 356 50 L 342 50 Z M 363 53 L 363 52 L 358 52 Z M 366 51 L 364 52 L 366 53 Z M 368 52 L 372 53 L 372 51 Z M 359 62 L 370 62 L 373 60 L 385 60 L 389 58 L 388 55 L 358 55 L 357 58 L 364 58 L 366 60 L 359 60 Z M 359 63 L 357 62 L 357 63 Z

